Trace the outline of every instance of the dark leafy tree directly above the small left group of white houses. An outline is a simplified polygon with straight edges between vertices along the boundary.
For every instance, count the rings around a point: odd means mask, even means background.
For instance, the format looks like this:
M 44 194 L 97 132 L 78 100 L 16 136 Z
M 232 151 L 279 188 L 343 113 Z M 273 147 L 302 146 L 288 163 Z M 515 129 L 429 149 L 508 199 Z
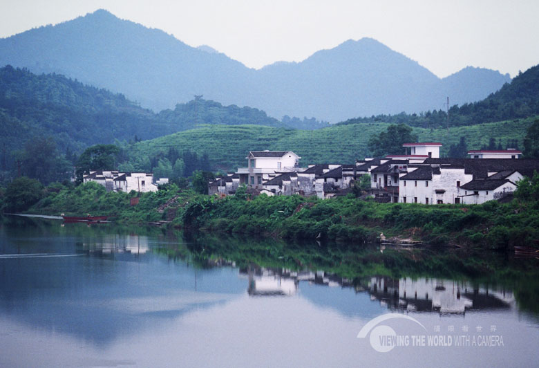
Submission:
M 90 170 L 116 169 L 119 153 L 120 147 L 115 145 L 94 145 L 86 148 L 77 160 L 77 183 L 82 183 L 82 176 Z

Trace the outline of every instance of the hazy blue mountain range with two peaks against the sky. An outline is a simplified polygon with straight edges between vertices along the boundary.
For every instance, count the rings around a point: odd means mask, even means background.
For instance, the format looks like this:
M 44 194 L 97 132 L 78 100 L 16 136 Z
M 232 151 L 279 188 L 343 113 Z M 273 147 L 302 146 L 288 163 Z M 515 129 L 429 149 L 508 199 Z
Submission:
M 479 68 L 438 78 L 375 39 L 349 40 L 299 63 L 247 68 L 209 46 L 192 48 L 172 35 L 106 10 L 56 26 L 0 39 L 0 65 L 62 73 L 125 93 L 156 111 L 193 95 L 224 104 L 256 106 L 271 116 L 350 116 L 419 112 L 480 100 L 509 75 Z

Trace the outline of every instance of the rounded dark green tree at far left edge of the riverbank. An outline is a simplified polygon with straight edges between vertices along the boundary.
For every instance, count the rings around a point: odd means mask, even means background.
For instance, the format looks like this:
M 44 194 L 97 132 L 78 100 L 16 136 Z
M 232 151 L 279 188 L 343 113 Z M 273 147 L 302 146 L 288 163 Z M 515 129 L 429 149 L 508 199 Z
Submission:
M 6 188 L 4 205 L 8 211 L 28 210 L 43 196 L 43 185 L 36 179 L 21 176 L 16 178 Z

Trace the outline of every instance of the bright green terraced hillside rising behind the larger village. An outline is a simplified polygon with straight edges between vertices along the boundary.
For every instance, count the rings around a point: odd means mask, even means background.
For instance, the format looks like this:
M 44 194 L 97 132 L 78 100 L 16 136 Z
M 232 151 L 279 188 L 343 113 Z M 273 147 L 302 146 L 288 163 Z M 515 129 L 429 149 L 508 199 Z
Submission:
M 469 127 L 446 129 L 414 128 L 422 141 L 442 142 L 442 155 L 451 144 L 466 137 L 469 149 L 487 145 L 490 138 L 502 145 L 507 140 L 522 140 L 535 118 L 492 122 Z M 165 156 L 170 148 L 192 149 L 198 154 L 207 153 L 214 169 L 234 169 L 245 166 L 249 150 L 292 150 L 301 156 L 301 165 L 310 163 L 353 163 L 356 158 L 370 156 L 369 138 L 388 127 L 388 123 L 337 125 L 315 131 L 278 129 L 255 125 L 206 126 L 138 142 L 126 147 L 129 163 L 135 169 L 149 170 L 148 158 Z

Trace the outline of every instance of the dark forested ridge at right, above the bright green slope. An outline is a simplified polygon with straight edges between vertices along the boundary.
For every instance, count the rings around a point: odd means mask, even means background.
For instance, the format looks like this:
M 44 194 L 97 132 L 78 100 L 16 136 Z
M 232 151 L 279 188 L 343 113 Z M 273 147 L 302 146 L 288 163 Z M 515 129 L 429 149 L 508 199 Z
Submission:
M 450 101 L 451 103 L 451 101 Z M 539 65 L 529 68 L 506 83 L 500 91 L 491 93 L 484 100 L 463 104 L 456 104 L 449 109 L 450 127 L 482 124 L 527 118 L 539 114 Z M 379 115 L 370 118 L 353 118 L 339 123 L 339 125 L 392 122 L 394 124 L 407 124 L 412 127 L 438 128 L 447 126 L 447 113 L 444 110 L 432 110 L 425 113 L 399 113 L 397 115 Z

